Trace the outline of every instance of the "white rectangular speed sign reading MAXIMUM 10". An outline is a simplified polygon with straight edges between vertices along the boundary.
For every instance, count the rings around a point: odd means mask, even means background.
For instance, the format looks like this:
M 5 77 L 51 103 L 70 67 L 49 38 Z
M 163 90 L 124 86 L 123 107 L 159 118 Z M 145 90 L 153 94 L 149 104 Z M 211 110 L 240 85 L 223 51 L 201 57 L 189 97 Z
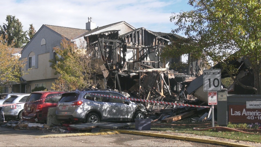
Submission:
M 221 90 L 221 70 L 207 69 L 203 71 L 204 91 Z

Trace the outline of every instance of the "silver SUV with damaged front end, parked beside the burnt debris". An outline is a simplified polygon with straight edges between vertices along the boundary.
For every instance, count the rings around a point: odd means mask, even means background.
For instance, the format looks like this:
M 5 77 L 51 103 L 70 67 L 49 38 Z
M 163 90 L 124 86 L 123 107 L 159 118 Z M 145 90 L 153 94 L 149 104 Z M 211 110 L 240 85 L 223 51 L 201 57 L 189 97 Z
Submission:
M 125 99 L 88 93 L 124 97 L 108 90 L 72 91 L 62 94 L 57 103 L 56 118 L 61 121 L 114 122 L 145 118 L 145 107 Z

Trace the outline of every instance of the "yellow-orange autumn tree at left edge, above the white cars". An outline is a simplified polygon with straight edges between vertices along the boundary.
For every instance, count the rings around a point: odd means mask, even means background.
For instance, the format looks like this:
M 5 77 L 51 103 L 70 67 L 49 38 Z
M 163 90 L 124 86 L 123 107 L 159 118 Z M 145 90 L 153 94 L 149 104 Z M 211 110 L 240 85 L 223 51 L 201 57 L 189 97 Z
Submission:
M 20 77 L 25 75 L 25 72 L 20 71 L 25 66 L 19 56 L 13 55 L 14 49 L 8 46 L 0 35 L 0 86 L 19 83 Z

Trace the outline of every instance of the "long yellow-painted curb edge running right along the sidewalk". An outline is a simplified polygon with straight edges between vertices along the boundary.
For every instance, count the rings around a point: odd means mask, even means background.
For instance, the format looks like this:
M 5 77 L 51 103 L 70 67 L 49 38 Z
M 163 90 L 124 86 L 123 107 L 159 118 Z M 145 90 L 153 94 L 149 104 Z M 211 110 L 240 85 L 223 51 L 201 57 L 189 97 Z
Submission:
M 106 130 L 105 130 L 106 131 Z M 168 139 L 177 139 L 177 140 L 186 140 L 186 141 L 193 141 L 193 142 L 200 142 L 200 143 L 210 143 L 210 144 L 218 144 L 218 145 L 226 145 L 226 146 L 242 146 L 248 147 L 248 145 L 236 144 L 236 143 L 228 143 L 223 141 L 217 140 L 210 140 L 210 139 L 200 139 L 194 137 L 183 137 L 183 136 L 175 136 L 175 135 L 168 135 L 168 134 L 159 134 L 159 133 L 147 133 L 141 131 L 127 131 L 127 130 L 114 130 L 120 133 L 126 134 L 135 134 L 135 135 L 143 135 L 143 136 L 151 136 L 151 137 L 161 137 L 161 138 L 168 138 Z

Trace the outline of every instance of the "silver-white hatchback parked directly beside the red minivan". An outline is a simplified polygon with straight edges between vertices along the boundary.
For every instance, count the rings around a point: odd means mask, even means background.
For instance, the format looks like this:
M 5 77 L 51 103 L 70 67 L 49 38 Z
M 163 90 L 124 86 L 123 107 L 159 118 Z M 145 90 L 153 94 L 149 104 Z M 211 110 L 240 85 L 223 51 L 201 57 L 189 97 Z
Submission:
M 8 99 L 6 99 L 3 104 L 14 104 L 14 103 L 22 103 L 26 102 L 27 98 L 30 94 L 14 94 L 11 95 Z M 22 120 L 22 112 L 23 106 L 25 103 L 10 105 L 10 106 L 3 106 L 0 114 L 5 119 L 20 119 Z

